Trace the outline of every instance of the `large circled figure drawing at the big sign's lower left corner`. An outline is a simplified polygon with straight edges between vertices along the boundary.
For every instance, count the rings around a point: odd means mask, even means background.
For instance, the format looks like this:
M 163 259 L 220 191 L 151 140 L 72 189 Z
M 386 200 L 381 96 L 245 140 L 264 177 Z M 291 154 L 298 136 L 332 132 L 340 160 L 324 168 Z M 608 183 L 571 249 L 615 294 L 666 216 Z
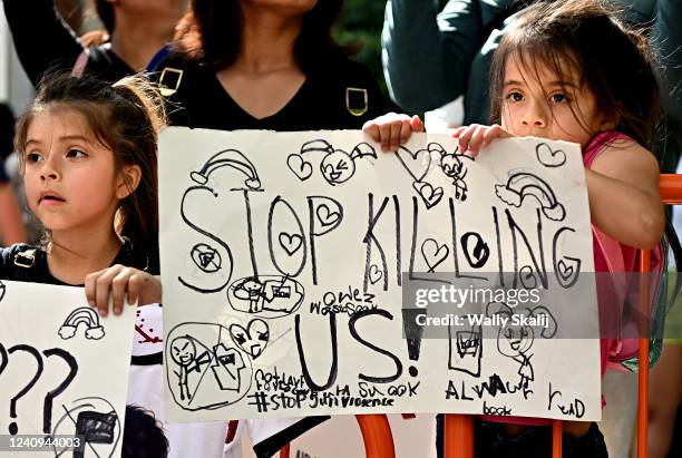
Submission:
M 249 392 L 253 379 L 249 353 L 236 347 L 227 328 L 182 323 L 166 341 L 166 378 L 175 403 L 184 410 L 230 406 Z

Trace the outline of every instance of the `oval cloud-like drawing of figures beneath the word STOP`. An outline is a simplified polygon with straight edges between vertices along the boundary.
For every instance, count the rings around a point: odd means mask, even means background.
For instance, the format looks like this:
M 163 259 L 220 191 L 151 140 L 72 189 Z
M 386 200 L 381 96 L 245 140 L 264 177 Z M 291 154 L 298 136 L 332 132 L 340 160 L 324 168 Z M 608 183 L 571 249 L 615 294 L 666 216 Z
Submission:
M 304 296 L 301 283 L 281 275 L 247 276 L 236 280 L 227 289 L 232 309 L 265 319 L 295 312 Z

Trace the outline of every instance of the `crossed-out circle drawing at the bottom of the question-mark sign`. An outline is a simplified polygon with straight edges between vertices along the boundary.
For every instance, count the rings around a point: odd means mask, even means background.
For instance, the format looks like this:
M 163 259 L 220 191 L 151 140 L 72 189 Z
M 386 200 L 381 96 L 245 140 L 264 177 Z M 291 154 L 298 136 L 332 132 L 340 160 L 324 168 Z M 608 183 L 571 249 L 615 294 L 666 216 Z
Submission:
M 56 458 L 71 450 L 74 458 L 85 458 L 87 455 L 109 458 L 115 456 L 123 431 L 120 417 L 108 400 L 100 397 L 79 398 L 70 406 L 62 405 L 61 408 L 65 413 L 56 422 L 51 437 L 79 436 L 81 440 L 76 448 L 52 446 Z M 88 449 L 91 454 L 86 454 Z M 120 455 L 120 450 L 118 454 Z

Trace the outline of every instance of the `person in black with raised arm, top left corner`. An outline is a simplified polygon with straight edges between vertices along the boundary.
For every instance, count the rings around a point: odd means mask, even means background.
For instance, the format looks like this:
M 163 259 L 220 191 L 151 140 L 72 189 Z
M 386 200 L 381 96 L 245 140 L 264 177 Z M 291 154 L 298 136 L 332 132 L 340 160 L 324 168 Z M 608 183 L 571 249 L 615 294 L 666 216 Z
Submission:
M 146 69 L 173 39 L 187 0 L 94 0 L 108 37 L 89 35 L 85 42 L 52 0 L 4 0 L 3 6 L 19 60 L 37 86 L 48 69 L 76 67 L 111 82 Z

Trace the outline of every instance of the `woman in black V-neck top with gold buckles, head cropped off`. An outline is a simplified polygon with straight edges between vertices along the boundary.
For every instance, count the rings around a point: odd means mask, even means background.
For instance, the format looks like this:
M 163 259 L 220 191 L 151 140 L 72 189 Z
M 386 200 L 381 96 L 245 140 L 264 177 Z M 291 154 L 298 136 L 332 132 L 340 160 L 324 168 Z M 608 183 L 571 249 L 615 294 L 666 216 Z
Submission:
M 332 38 L 342 0 L 194 0 L 158 67 L 170 124 L 360 128 L 386 111 L 369 69 Z

